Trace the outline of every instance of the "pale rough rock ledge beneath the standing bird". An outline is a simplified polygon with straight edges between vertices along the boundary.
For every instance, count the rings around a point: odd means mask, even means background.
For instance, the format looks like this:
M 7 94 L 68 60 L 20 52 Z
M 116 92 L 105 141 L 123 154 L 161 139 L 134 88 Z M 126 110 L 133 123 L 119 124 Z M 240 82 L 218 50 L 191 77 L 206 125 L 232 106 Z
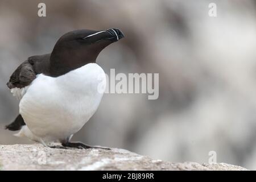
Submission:
M 56 149 L 41 144 L 0 145 L 2 170 L 247 170 L 225 163 L 171 163 L 112 148 Z

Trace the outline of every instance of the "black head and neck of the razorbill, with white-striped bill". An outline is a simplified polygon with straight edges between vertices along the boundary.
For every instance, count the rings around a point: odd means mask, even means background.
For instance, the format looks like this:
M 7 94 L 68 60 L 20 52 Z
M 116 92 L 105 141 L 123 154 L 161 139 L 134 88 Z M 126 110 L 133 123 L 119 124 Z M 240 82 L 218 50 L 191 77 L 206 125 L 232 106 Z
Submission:
M 117 28 L 68 32 L 61 36 L 51 53 L 51 75 L 63 75 L 85 64 L 95 63 L 102 49 L 123 37 L 123 33 Z

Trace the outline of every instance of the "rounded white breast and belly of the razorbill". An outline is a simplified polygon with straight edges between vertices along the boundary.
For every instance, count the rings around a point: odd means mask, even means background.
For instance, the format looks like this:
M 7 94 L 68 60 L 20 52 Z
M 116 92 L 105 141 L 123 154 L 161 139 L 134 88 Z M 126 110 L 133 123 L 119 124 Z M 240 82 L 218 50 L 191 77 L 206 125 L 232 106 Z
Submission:
M 56 78 L 41 74 L 20 101 L 20 114 L 37 137 L 65 139 L 92 117 L 105 88 L 105 73 L 95 63 Z

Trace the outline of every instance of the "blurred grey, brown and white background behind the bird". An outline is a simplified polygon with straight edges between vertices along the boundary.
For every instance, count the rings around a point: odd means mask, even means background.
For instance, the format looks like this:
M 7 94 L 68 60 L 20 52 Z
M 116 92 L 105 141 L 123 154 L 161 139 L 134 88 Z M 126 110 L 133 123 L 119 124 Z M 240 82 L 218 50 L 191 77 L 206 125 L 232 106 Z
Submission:
M 217 162 L 256 169 L 255 10 L 250 0 L 0 0 L 0 144 L 32 143 L 3 129 L 19 111 L 6 82 L 20 63 L 51 52 L 68 31 L 118 27 L 125 39 L 98 64 L 106 73 L 159 73 L 159 98 L 105 94 L 73 140 L 170 162 L 208 163 L 216 151 Z

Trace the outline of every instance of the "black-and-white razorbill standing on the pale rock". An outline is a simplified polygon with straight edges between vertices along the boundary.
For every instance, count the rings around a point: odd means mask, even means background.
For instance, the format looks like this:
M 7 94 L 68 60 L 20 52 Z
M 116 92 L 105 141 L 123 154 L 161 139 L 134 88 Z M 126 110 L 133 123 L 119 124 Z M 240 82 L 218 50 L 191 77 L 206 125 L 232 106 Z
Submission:
M 96 112 L 106 88 L 98 55 L 123 37 L 118 28 L 70 31 L 57 40 L 51 53 L 28 57 L 7 82 L 19 100 L 19 115 L 6 129 L 45 147 L 109 150 L 71 138 Z M 54 141 L 61 145 L 51 146 Z

